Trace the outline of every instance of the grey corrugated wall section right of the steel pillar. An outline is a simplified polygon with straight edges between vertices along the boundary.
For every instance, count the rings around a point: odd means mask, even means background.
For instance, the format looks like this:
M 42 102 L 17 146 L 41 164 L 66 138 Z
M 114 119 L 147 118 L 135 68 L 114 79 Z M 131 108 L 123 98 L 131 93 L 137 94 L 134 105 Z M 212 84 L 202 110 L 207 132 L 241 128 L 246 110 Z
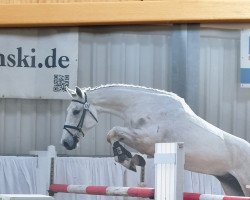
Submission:
M 240 31 L 203 30 L 199 115 L 250 141 L 250 90 L 240 87 Z

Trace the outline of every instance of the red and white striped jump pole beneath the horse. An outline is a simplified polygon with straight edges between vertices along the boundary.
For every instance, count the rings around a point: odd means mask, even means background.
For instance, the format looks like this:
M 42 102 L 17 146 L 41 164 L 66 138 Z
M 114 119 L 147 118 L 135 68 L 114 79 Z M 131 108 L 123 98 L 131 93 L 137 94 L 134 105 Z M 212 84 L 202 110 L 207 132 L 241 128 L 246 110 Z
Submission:
M 51 192 L 105 195 L 105 196 L 129 196 L 154 198 L 154 188 L 143 187 L 112 187 L 112 186 L 84 186 L 52 184 L 49 188 Z M 223 196 L 213 194 L 183 193 L 183 200 L 250 200 L 250 197 Z

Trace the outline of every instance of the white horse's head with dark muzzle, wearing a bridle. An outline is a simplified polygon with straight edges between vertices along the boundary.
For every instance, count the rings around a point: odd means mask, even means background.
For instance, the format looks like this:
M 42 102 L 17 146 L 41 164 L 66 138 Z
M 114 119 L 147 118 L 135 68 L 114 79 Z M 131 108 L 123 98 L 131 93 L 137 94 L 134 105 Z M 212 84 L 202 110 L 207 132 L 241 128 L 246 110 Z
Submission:
M 84 136 L 84 131 L 97 124 L 97 111 L 93 105 L 88 102 L 87 94 L 82 92 L 79 87 L 76 90 L 67 88 L 68 93 L 73 97 L 68 109 L 63 135 L 62 145 L 72 150 L 77 147 L 79 139 Z

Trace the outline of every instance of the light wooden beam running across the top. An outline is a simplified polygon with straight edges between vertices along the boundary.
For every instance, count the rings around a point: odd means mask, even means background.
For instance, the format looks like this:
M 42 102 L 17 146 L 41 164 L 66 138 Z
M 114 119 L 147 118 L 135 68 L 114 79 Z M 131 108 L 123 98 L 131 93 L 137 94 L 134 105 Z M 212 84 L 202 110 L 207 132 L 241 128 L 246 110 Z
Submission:
M 250 22 L 249 0 L 0 4 L 0 27 Z

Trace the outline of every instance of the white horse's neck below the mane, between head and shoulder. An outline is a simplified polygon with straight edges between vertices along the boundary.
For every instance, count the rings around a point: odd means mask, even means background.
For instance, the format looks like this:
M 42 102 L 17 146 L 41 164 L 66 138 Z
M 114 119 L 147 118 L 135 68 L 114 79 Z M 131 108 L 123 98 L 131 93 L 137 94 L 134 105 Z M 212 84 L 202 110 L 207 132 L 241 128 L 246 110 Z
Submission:
M 140 92 L 140 91 L 139 91 Z M 89 102 L 98 112 L 106 112 L 125 118 L 126 110 L 138 103 L 138 91 L 123 87 L 103 87 L 87 91 Z

